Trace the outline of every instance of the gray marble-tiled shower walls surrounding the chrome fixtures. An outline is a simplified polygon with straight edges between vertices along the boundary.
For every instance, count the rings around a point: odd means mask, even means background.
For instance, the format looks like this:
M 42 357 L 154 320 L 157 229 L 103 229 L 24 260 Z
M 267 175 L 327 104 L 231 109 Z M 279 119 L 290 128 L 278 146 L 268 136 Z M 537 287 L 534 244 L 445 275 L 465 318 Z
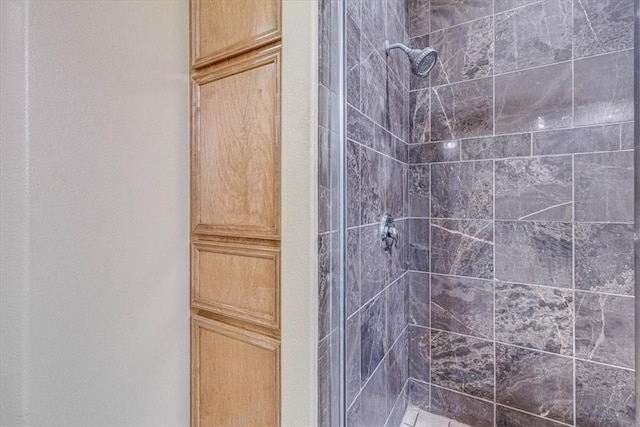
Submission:
M 633 3 L 320 1 L 320 425 L 635 425 Z

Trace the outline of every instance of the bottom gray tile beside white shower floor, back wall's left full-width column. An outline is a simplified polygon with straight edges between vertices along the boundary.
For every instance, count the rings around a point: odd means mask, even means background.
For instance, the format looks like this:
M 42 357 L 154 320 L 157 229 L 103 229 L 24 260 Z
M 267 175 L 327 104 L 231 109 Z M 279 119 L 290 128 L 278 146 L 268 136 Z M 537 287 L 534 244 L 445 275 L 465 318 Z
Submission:
M 494 404 L 464 394 L 431 386 L 429 412 L 474 427 L 492 427 Z

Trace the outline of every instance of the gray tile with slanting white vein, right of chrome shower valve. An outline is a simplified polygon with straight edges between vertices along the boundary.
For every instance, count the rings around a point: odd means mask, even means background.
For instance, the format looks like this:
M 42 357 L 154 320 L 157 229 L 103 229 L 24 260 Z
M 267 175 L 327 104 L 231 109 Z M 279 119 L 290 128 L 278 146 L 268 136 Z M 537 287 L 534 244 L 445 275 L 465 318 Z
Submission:
M 493 223 L 481 220 L 432 220 L 431 271 L 492 279 Z

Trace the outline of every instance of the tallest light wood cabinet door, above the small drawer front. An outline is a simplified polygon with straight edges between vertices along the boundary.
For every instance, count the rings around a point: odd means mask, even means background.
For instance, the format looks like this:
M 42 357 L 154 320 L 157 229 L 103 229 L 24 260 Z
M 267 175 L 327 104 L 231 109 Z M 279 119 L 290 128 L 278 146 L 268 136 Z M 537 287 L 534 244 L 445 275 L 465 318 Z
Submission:
M 279 240 L 280 46 L 192 82 L 192 231 Z

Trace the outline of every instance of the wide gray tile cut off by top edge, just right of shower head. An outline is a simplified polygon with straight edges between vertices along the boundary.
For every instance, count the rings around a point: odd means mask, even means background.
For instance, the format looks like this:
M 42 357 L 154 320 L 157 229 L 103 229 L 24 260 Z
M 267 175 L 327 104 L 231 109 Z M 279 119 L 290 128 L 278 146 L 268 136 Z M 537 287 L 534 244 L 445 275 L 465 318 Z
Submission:
M 431 0 L 431 32 L 491 15 L 493 0 Z

